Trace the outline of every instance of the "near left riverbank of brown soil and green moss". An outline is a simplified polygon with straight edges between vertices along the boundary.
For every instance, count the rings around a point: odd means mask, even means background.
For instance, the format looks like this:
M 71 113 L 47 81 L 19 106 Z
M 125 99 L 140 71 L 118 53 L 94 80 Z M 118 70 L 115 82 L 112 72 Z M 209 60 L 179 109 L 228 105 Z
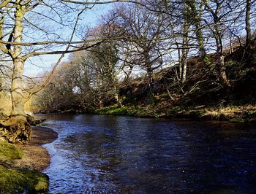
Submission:
M 34 127 L 29 144 L 0 141 L 0 193 L 48 193 L 48 176 L 42 173 L 50 156 L 42 144 L 58 134 L 50 128 Z

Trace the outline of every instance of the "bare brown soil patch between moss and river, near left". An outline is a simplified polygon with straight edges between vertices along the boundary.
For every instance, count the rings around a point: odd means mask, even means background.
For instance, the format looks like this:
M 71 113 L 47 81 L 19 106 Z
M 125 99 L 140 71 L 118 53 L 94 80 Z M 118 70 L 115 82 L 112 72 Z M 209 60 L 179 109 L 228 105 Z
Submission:
M 48 144 L 57 139 L 57 137 L 58 133 L 50 128 L 34 127 L 29 144 L 17 144 L 18 147 L 22 148 L 24 156 L 22 159 L 15 160 L 13 166 L 34 168 L 42 171 L 50 163 L 50 155 L 42 147 L 42 144 Z

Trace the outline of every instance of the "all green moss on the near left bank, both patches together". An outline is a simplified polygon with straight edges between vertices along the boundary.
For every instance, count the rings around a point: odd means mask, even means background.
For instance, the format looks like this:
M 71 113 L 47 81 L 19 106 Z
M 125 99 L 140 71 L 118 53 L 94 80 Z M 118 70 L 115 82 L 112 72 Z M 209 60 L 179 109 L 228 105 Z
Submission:
M 12 160 L 23 157 L 23 150 L 0 141 L 0 193 L 48 193 L 48 176 L 28 168 L 12 168 Z

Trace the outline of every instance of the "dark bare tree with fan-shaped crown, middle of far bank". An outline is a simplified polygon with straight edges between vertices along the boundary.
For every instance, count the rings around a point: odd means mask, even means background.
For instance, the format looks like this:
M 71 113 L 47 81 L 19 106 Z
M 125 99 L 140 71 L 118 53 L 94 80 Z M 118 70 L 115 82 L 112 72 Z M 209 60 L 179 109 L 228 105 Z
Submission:
M 153 72 L 162 66 L 163 55 L 167 50 L 167 44 L 162 41 L 165 29 L 168 28 L 165 23 L 167 18 L 138 4 L 118 7 L 115 12 L 115 22 L 123 29 L 124 40 L 133 40 L 127 45 L 127 54 L 132 59 L 129 62 L 146 70 L 151 88 Z

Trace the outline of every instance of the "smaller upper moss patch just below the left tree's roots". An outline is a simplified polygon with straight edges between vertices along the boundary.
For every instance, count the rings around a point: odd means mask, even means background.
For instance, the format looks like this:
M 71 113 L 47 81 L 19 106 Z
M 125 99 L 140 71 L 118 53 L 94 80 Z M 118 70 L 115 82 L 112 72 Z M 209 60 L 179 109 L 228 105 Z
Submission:
M 23 157 L 23 150 L 9 144 L 5 141 L 0 141 L 0 161 L 9 163 L 11 160 L 20 159 Z

